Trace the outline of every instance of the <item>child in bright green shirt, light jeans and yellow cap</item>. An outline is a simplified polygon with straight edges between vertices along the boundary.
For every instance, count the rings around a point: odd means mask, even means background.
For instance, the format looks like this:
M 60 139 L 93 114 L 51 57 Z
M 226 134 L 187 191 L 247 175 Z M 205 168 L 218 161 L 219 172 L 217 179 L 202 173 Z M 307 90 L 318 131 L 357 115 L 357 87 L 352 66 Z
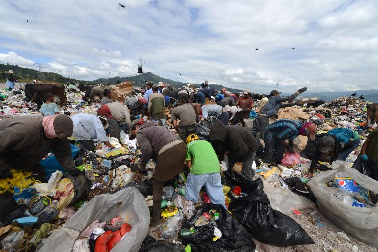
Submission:
M 185 186 L 185 200 L 196 203 L 201 187 L 205 186 L 211 202 L 226 208 L 223 185 L 221 183 L 221 165 L 211 144 L 207 141 L 199 140 L 195 134 L 189 135 L 185 160 L 190 169 Z

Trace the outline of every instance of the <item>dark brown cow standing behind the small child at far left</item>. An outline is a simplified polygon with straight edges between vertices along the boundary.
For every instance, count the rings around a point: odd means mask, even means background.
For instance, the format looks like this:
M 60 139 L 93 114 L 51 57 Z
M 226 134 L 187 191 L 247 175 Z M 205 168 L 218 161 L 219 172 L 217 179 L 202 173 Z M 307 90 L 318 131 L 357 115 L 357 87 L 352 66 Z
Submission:
M 52 93 L 54 96 L 59 97 L 61 105 L 67 104 L 67 96 L 65 93 L 65 86 L 59 83 L 28 83 L 25 85 L 25 96 L 31 101 L 38 104 L 38 108 L 42 105 L 42 100 L 45 93 Z

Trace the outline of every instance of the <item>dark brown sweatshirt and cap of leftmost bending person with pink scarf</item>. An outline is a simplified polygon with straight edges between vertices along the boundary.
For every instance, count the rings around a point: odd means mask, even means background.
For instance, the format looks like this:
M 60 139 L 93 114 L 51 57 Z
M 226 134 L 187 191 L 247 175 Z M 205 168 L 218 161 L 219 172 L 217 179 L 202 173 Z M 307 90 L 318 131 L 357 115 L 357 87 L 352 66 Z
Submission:
M 75 167 L 71 157 L 73 123 L 67 115 L 56 116 L 55 134 L 48 138 L 42 126 L 42 116 L 17 116 L 0 121 L 0 172 L 9 168 L 23 169 L 38 165 L 49 152 L 53 152 L 65 170 Z

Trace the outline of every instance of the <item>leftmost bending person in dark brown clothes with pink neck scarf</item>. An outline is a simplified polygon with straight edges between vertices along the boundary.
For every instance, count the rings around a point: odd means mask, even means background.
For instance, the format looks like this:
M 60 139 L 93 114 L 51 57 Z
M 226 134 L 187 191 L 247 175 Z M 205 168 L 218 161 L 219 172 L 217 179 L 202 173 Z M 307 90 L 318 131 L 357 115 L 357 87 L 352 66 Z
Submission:
M 31 172 L 32 177 L 47 182 L 45 171 L 39 161 L 53 152 L 59 164 L 71 175 L 77 175 L 71 157 L 71 145 L 67 139 L 72 135 L 73 123 L 65 114 L 54 116 L 17 116 L 0 121 L 0 180 L 12 178 L 12 171 Z M 17 206 L 13 194 L 0 194 L 0 222 Z

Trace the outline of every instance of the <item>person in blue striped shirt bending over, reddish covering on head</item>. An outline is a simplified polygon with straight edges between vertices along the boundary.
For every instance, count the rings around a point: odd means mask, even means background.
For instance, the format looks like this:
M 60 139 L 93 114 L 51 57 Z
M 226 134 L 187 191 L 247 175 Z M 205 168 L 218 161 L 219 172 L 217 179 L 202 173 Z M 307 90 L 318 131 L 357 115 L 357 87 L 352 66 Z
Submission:
M 280 164 L 281 159 L 284 157 L 285 148 L 287 152 L 294 152 L 294 139 L 296 137 L 302 135 L 314 140 L 316 132 L 317 126 L 312 122 L 302 124 L 292 119 L 280 119 L 273 122 L 266 127 L 264 134 L 264 162 Z M 288 144 L 286 140 L 289 141 Z M 275 155 L 274 152 L 276 152 Z

